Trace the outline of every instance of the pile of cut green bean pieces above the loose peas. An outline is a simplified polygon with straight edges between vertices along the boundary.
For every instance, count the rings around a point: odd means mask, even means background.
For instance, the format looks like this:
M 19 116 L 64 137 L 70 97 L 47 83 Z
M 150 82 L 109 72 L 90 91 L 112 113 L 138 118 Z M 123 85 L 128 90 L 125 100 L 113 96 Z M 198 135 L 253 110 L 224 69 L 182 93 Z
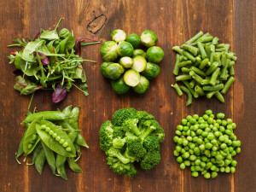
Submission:
M 176 81 L 182 81 L 185 86 L 171 86 L 178 96 L 183 92 L 187 94 L 186 106 L 192 103 L 193 96 L 207 96 L 208 99 L 215 96 L 224 102 L 223 95 L 235 81 L 237 57 L 229 50 L 230 44 L 218 44 L 217 37 L 198 32 L 182 46 L 172 49 L 177 52 L 173 73 L 177 76 Z

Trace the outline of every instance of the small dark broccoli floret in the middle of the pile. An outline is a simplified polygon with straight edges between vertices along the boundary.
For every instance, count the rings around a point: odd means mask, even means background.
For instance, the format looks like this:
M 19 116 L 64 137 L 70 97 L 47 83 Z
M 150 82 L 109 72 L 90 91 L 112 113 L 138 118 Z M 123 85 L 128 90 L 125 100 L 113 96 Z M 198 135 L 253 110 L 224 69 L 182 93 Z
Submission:
M 147 150 L 143 147 L 143 142 L 140 138 L 129 138 L 126 141 L 128 154 L 138 158 L 143 157 Z

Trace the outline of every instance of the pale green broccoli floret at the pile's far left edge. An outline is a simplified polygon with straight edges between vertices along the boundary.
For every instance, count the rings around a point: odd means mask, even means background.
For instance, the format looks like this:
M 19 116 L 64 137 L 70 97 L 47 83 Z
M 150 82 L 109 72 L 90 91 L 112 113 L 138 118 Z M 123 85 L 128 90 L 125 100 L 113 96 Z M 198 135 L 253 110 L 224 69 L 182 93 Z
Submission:
M 103 151 L 107 152 L 108 148 L 112 147 L 113 143 L 113 129 L 110 120 L 105 121 L 99 131 L 100 146 Z

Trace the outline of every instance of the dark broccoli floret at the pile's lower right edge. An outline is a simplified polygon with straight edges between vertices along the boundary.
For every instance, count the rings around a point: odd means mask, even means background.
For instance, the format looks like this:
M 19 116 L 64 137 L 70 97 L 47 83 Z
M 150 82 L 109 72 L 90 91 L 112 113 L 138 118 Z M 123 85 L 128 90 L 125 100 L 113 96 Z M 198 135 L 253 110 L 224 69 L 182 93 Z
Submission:
M 159 164 L 160 159 L 160 152 L 158 150 L 150 151 L 144 156 L 140 166 L 143 170 L 152 169 L 154 166 Z

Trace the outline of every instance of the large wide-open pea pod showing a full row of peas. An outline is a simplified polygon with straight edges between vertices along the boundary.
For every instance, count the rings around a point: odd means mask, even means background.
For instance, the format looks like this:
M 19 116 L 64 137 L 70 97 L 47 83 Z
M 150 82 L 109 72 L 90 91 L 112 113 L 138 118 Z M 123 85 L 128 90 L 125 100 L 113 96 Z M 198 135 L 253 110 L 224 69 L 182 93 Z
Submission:
M 67 157 L 75 156 L 73 142 L 67 133 L 62 131 L 61 126 L 54 125 L 47 120 L 41 120 L 37 123 L 36 129 L 39 137 L 55 153 Z

